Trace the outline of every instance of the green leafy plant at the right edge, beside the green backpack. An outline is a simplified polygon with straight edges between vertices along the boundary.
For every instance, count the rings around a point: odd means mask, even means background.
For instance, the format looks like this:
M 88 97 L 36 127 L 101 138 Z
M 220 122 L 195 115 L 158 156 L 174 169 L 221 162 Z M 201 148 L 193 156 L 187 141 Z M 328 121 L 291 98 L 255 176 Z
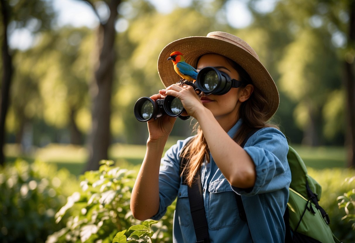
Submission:
M 345 183 L 351 183 L 355 181 L 355 176 L 349 177 L 345 179 Z M 352 224 L 353 230 L 355 230 L 355 188 L 352 190 L 345 192 L 343 196 L 339 196 L 337 198 L 340 208 L 344 208 L 345 216 L 342 217 L 342 220 L 348 220 L 349 222 L 354 222 Z

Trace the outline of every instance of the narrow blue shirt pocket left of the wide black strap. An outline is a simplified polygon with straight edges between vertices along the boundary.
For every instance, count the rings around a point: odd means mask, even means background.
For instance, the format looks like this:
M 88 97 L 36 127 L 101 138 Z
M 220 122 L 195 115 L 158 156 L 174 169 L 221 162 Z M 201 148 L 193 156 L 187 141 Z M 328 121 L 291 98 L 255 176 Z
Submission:
M 178 200 L 176 201 L 176 215 L 178 215 L 179 224 L 181 226 L 187 227 L 190 225 L 192 217 L 190 213 L 190 202 L 186 185 L 180 185 Z

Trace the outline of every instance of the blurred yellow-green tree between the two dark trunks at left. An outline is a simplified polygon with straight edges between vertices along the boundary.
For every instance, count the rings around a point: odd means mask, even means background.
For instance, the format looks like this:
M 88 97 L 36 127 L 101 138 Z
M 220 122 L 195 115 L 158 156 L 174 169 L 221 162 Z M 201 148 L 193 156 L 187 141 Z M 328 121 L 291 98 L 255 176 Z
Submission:
M 83 143 L 77 114 L 87 104 L 88 80 L 91 77 L 88 75 L 89 57 L 93 45 L 91 33 L 87 28 L 70 27 L 45 32 L 39 44 L 28 51 L 32 54 L 26 58 L 35 63 L 35 70 L 29 72 L 38 79 L 44 122 L 56 129 L 69 127 L 70 143 L 76 145 Z M 18 66 L 24 69 L 24 65 L 19 63 Z M 17 100 L 13 102 L 18 103 Z

